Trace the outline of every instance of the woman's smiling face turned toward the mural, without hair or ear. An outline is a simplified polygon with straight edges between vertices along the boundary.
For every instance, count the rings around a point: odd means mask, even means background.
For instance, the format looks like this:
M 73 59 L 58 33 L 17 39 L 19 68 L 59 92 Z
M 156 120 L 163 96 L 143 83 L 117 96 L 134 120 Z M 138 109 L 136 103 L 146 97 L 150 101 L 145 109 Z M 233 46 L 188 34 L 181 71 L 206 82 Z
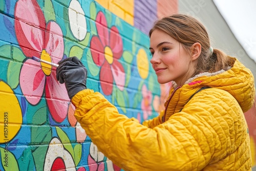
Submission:
M 150 51 L 152 53 L 152 67 L 157 74 L 159 83 L 175 81 L 179 86 L 193 73 L 189 70 L 191 57 L 184 50 L 179 41 L 161 30 L 154 30 L 150 38 Z

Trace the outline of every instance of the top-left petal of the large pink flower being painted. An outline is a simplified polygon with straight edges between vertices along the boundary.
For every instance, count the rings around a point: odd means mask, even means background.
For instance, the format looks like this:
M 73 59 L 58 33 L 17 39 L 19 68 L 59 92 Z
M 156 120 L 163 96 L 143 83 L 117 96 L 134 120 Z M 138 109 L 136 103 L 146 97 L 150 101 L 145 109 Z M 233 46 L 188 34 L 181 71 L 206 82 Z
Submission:
M 39 57 L 42 49 L 45 49 L 44 13 L 36 1 L 18 1 L 14 15 L 15 32 L 20 48 L 28 57 Z

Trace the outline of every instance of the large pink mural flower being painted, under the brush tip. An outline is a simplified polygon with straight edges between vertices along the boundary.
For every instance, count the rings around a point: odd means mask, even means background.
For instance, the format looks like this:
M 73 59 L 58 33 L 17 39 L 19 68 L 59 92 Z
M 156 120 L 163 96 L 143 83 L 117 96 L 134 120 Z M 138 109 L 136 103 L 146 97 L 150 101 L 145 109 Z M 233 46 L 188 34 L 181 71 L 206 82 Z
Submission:
M 57 63 L 64 51 L 58 24 L 53 20 L 46 23 L 44 13 L 35 0 L 19 0 L 14 15 L 15 32 L 23 53 L 27 57 L 35 56 Z M 28 59 L 20 71 L 19 83 L 29 103 L 39 103 L 45 93 L 53 119 L 62 122 L 66 118 L 69 97 L 65 84 L 56 80 L 56 68 Z

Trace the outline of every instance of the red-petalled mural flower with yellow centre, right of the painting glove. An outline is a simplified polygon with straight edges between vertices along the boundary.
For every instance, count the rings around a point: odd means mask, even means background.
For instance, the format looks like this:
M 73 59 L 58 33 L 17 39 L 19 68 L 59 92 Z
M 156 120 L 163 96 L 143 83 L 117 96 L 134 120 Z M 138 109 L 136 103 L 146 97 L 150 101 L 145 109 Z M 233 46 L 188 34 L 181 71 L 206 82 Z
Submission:
M 94 63 L 101 66 L 100 85 L 105 95 L 111 95 L 113 81 L 122 91 L 125 83 L 123 66 L 118 61 L 123 53 L 121 36 L 115 26 L 110 31 L 104 14 L 100 11 L 96 17 L 98 36 L 91 40 L 91 53 Z

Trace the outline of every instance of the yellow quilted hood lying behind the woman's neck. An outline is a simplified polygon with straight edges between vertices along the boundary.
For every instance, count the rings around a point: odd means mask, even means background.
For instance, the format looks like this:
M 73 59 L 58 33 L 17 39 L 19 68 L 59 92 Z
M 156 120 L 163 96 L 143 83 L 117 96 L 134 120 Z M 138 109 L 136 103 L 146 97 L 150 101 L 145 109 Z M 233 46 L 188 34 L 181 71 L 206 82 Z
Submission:
M 211 87 L 230 93 L 239 102 L 243 112 L 248 111 L 255 97 L 254 77 L 238 59 L 229 57 L 230 68 L 216 73 L 201 73 L 190 78 L 184 86 Z M 191 80 L 191 81 L 190 81 Z

